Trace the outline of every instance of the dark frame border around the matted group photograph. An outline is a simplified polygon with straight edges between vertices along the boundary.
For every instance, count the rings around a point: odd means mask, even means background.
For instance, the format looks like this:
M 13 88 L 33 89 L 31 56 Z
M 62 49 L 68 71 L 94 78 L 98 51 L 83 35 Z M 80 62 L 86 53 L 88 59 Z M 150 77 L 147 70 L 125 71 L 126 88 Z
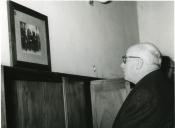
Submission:
M 28 7 L 15 3 L 13 1 L 7 1 L 8 6 L 8 24 L 9 24 L 9 41 L 10 41 L 10 53 L 11 53 L 11 64 L 14 67 L 27 68 L 31 70 L 42 70 L 51 71 L 51 58 L 50 58 L 50 43 L 49 43 L 49 28 L 48 28 L 48 18 L 46 15 L 34 11 Z M 34 18 L 43 20 L 45 22 L 45 35 L 46 35 L 46 51 L 47 51 L 47 65 L 25 62 L 17 60 L 17 50 L 16 50 L 16 32 L 15 32 L 15 18 L 14 10 L 20 11 Z

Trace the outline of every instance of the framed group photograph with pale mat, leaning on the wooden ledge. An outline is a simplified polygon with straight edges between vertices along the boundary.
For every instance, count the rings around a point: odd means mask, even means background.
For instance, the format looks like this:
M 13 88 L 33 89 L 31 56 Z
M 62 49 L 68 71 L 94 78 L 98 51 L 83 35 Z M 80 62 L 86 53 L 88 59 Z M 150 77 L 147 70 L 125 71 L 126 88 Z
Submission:
M 12 65 L 51 71 L 47 16 L 13 1 L 8 14 Z

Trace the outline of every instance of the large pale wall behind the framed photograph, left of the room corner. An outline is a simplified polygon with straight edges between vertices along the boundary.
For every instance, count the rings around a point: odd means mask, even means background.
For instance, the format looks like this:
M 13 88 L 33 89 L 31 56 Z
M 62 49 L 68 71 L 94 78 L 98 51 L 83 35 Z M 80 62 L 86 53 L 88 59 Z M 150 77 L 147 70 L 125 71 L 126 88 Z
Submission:
M 15 1 L 48 16 L 53 72 L 121 77 L 121 56 L 139 41 L 135 2 Z M 7 5 L 1 3 L 1 63 L 11 66 Z

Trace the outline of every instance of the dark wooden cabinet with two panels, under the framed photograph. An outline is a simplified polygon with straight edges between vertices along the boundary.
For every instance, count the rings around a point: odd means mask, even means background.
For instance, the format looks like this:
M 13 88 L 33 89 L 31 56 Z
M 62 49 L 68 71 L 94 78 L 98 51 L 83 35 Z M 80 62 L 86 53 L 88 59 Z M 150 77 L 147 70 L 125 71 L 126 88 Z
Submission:
M 90 98 L 93 78 L 2 68 L 3 128 L 93 127 Z

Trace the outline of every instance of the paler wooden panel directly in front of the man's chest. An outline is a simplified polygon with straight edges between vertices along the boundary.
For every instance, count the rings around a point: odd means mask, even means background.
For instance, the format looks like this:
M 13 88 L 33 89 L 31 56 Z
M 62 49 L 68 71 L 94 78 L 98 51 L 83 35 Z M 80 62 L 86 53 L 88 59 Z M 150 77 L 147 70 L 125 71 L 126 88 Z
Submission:
M 112 128 L 113 121 L 126 96 L 123 79 L 91 82 L 93 128 Z

